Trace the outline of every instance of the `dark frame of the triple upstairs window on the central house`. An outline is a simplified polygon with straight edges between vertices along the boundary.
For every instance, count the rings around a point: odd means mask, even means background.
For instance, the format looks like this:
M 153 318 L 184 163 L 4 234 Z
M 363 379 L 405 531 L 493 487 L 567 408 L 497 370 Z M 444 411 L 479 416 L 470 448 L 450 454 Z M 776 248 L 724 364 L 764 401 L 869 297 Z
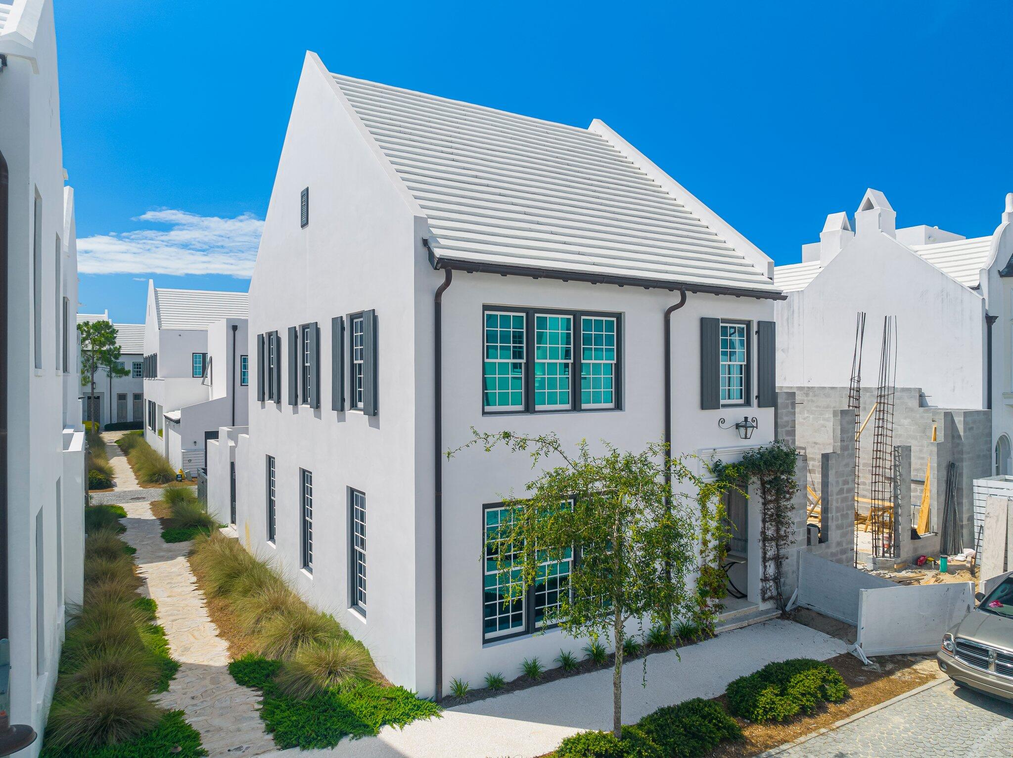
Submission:
M 494 407 L 485 405 L 485 315 L 487 313 L 521 314 L 525 317 L 524 324 L 524 408 L 497 411 Z M 568 316 L 570 317 L 570 346 L 572 360 L 570 361 L 570 407 L 569 408 L 535 408 L 535 316 Z M 613 374 L 613 392 L 615 403 L 612 408 L 583 408 L 580 404 L 580 370 L 581 364 L 581 333 L 582 319 L 605 318 L 616 320 L 616 362 Z M 623 314 L 613 311 L 589 311 L 559 308 L 534 308 L 528 306 L 482 306 L 479 344 L 482 348 L 478 381 L 481 392 L 479 402 L 482 405 L 483 416 L 516 416 L 539 413 L 611 413 L 625 410 L 623 402 L 623 373 L 625 360 L 625 322 Z

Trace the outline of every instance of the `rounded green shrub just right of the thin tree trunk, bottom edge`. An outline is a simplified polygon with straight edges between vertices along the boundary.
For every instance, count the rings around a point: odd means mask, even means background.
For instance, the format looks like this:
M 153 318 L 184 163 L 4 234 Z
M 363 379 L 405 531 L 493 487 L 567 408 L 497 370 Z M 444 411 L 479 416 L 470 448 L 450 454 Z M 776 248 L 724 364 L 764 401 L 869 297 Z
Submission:
M 738 724 L 720 703 L 701 697 L 658 708 L 641 719 L 638 726 L 671 758 L 699 758 L 722 741 L 743 736 Z

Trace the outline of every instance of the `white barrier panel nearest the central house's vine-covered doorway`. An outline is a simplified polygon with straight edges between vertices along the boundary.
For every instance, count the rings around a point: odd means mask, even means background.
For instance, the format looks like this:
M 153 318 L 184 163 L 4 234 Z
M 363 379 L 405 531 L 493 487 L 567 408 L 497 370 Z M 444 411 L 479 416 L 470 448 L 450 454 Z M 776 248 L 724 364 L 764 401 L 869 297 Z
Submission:
M 788 609 L 801 606 L 857 626 L 859 590 L 897 586 L 888 579 L 798 551 L 798 589 Z

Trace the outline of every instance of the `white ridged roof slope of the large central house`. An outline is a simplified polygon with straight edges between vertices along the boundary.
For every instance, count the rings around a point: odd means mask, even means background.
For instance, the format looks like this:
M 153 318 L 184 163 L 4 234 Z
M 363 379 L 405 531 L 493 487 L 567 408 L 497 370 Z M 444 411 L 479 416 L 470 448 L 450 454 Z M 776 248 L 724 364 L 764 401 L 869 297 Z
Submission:
M 602 135 L 332 76 L 425 213 L 438 260 L 778 292 Z

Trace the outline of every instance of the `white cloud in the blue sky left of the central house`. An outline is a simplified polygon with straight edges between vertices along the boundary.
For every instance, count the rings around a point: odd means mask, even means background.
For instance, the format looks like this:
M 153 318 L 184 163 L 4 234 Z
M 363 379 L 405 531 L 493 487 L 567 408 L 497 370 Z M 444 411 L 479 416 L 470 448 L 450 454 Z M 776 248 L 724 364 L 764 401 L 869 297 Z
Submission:
M 85 237 L 77 241 L 81 273 L 227 274 L 249 278 L 263 222 L 250 214 L 235 219 L 185 210 L 149 210 L 134 221 L 168 229 Z

